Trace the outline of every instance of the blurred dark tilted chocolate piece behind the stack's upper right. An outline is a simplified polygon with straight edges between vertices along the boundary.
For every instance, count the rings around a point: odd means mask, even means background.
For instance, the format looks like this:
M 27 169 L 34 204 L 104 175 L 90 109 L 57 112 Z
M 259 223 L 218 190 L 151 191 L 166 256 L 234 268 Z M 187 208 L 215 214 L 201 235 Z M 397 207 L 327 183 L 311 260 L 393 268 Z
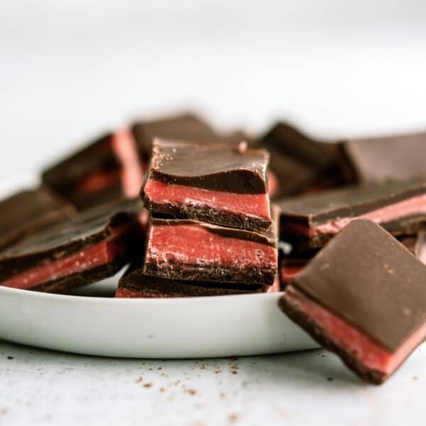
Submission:
M 274 199 L 317 192 L 344 182 L 333 143 L 316 141 L 283 122 L 275 124 L 261 143 L 271 154 Z

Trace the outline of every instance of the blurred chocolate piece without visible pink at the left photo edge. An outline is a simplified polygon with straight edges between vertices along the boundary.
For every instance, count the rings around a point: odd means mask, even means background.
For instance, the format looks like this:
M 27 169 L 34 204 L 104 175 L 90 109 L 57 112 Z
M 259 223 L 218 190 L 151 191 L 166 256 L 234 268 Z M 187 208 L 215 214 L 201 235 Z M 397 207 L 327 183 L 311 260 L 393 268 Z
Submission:
M 17 192 L 0 202 L 0 250 L 76 213 L 75 207 L 48 188 Z

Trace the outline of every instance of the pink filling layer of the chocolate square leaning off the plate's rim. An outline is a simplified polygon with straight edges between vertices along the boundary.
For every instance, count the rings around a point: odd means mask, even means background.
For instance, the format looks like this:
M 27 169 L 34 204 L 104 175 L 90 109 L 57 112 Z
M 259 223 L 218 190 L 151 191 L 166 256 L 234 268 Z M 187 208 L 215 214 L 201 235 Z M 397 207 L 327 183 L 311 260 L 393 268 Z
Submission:
M 334 344 L 359 359 L 361 364 L 367 368 L 381 371 L 381 373 L 386 375 L 393 373 L 426 336 L 425 323 L 408 337 L 395 352 L 391 352 L 351 326 L 351 324 L 342 320 L 342 318 L 310 300 L 295 288 L 288 288 L 284 293 L 284 297 L 299 312 L 313 320 Z

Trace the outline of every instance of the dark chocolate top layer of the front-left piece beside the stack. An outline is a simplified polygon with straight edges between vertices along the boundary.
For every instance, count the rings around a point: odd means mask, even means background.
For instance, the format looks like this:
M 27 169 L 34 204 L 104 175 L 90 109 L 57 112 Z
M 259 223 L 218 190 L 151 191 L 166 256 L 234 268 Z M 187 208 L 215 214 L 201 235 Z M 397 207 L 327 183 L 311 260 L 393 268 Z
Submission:
M 121 225 L 136 224 L 142 208 L 140 200 L 105 204 L 34 234 L 0 252 L 0 280 L 8 277 L 11 271 L 26 271 L 96 244 Z

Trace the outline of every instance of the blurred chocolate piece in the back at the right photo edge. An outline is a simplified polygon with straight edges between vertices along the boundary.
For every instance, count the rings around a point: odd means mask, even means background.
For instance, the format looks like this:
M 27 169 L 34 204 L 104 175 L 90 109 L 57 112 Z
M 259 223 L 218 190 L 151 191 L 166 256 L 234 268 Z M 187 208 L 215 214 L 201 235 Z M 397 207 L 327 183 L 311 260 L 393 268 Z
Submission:
M 344 172 L 351 182 L 426 178 L 426 133 L 350 139 L 340 146 Z

